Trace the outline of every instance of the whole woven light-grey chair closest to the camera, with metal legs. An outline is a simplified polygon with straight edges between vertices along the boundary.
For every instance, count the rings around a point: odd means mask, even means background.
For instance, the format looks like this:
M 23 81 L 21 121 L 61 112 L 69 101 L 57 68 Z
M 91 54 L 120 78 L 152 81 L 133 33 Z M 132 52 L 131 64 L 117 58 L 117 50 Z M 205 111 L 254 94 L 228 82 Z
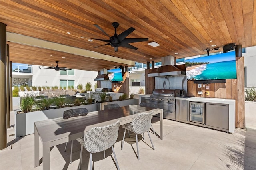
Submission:
M 90 170 L 92 170 L 92 154 L 104 151 L 103 153 L 105 158 L 105 150 L 111 147 L 116 161 L 117 169 L 119 170 L 116 154 L 113 147 L 118 137 L 119 125 L 120 120 L 118 120 L 116 123 L 106 125 L 104 127 L 93 127 L 83 138 L 76 139 L 81 143 L 79 169 L 82 165 L 83 147 L 90 153 Z

